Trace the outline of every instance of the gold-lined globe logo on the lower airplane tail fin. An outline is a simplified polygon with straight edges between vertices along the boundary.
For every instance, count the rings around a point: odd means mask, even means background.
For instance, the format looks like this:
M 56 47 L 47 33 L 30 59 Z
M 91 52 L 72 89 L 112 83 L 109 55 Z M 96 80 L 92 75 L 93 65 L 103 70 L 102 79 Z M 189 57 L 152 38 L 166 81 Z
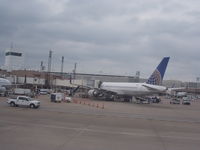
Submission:
M 148 84 L 161 85 L 162 77 L 160 72 L 156 69 L 147 81 Z

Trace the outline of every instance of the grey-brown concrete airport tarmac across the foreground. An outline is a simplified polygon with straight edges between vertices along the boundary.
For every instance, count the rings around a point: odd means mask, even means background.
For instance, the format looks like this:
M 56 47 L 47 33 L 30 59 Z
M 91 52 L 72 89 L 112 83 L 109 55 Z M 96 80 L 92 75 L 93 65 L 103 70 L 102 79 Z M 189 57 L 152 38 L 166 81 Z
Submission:
M 0 98 L 2 150 L 199 150 L 200 100 L 191 106 L 76 99 L 39 109 L 10 107 Z M 80 104 L 81 103 L 81 104 Z

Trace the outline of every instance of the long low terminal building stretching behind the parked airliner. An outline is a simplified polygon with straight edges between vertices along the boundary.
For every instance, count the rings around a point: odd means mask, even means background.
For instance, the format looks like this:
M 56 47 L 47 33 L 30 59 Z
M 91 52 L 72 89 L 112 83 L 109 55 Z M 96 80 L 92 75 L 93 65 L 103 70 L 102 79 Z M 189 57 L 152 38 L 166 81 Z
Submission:
M 13 70 L 8 72 L 0 70 L 2 77 L 10 80 L 13 85 L 18 87 L 38 89 L 38 88 L 51 88 L 70 89 L 78 85 L 85 89 L 86 87 L 98 88 L 100 82 L 146 82 L 147 79 L 138 78 L 137 76 L 118 76 L 118 75 L 101 75 L 101 74 L 83 74 L 83 73 L 60 73 L 60 72 L 40 72 L 33 70 Z M 49 77 L 47 78 L 47 75 Z M 50 86 L 46 86 L 46 80 L 49 79 Z M 163 85 L 172 87 L 185 87 L 186 92 L 200 94 L 200 82 L 182 82 L 178 80 L 164 80 Z

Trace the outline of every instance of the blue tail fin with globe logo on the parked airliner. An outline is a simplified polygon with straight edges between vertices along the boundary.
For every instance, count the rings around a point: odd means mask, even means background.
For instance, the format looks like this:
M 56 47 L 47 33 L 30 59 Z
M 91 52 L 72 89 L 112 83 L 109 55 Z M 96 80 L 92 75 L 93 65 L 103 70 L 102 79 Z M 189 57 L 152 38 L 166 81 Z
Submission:
M 164 57 L 163 60 L 160 62 L 156 70 L 152 73 L 150 78 L 148 79 L 148 84 L 153 85 L 161 85 L 163 77 L 165 75 L 165 70 L 167 68 L 167 64 L 169 62 L 169 57 Z

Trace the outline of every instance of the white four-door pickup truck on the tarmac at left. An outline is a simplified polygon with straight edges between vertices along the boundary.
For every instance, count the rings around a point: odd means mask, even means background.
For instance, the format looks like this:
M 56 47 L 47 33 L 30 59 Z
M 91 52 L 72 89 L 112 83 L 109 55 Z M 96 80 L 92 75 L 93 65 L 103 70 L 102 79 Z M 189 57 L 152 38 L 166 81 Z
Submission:
M 25 106 L 30 108 L 40 107 L 40 101 L 32 99 L 28 96 L 18 96 L 17 98 L 9 98 L 7 103 L 12 106 Z

